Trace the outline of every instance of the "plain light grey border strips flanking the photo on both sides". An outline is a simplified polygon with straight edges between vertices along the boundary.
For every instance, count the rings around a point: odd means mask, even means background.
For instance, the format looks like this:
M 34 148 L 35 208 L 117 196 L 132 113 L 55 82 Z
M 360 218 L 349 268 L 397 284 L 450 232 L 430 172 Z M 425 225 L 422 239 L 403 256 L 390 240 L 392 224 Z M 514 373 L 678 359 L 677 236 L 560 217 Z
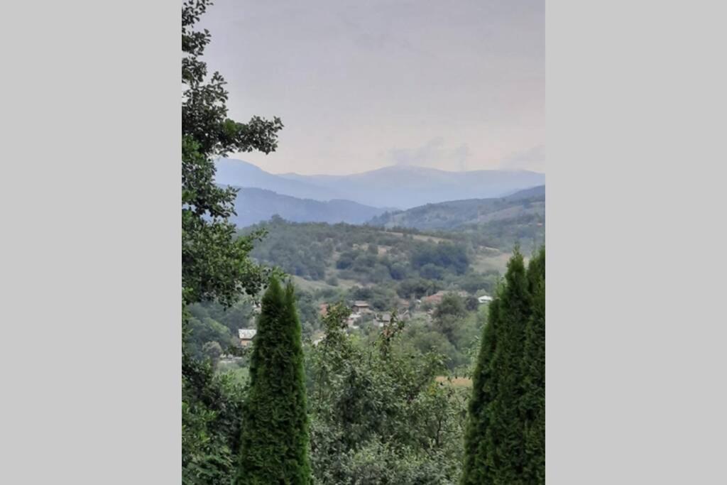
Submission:
M 180 483 L 179 7 L 0 20 L 1 483 Z M 547 1 L 551 484 L 727 481 L 723 14 Z

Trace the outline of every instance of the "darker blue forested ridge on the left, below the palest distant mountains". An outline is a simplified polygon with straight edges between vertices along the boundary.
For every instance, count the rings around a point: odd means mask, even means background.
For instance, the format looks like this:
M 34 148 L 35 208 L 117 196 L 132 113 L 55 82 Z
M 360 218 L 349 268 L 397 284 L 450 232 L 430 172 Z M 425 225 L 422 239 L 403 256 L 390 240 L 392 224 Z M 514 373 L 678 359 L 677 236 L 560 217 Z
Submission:
M 237 215 L 230 220 L 241 228 L 269 220 L 273 215 L 294 223 L 363 224 L 386 211 L 341 199 L 299 199 L 261 188 L 239 188 L 235 210 Z

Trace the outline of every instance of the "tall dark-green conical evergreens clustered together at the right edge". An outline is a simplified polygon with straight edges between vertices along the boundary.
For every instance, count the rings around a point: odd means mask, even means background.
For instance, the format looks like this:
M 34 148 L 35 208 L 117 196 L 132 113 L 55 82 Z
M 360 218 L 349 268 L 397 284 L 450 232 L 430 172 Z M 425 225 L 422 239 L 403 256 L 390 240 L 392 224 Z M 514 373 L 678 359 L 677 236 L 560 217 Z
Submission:
M 545 249 L 515 251 L 489 306 L 473 379 L 462 484 L 545 483 Z

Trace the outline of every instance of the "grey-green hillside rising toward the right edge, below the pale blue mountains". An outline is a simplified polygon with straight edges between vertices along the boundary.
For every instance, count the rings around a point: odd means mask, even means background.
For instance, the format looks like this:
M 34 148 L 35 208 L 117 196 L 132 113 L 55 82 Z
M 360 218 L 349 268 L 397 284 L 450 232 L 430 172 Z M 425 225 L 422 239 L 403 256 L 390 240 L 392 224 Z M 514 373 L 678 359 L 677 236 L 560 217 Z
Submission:
M 369 224 L 420 230 L 502 226 L 503 230 L 523 233 L 527 233 L 527 228 L 530 228 L 531 235 L 537 236 L 538 228 L 545 231 L 545 185 L 497 199 L 465 199 L 386 212 L 374 217 Z

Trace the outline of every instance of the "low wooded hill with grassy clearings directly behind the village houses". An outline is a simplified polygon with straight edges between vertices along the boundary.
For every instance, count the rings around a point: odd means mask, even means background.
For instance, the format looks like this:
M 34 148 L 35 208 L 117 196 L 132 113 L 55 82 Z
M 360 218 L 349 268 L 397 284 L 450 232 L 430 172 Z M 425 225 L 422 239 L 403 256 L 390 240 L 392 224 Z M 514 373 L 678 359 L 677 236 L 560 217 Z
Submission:
M 348 224 L 288 223 L 279 217 L 241 234 L 254 231 L 266 232 L 252 250 L 256 260 L 329 286 L 339 286 L 342 281 L 348 286 L 351 282 L 377 286 L 387 294 L 379 294 L 379 301 L 392 295 L 421 298 L 441 289 L 487 293 L 498 276 L 497 270 L 473 270 L 480 246 L 462 235 L 422 241 L 412 233 Z

